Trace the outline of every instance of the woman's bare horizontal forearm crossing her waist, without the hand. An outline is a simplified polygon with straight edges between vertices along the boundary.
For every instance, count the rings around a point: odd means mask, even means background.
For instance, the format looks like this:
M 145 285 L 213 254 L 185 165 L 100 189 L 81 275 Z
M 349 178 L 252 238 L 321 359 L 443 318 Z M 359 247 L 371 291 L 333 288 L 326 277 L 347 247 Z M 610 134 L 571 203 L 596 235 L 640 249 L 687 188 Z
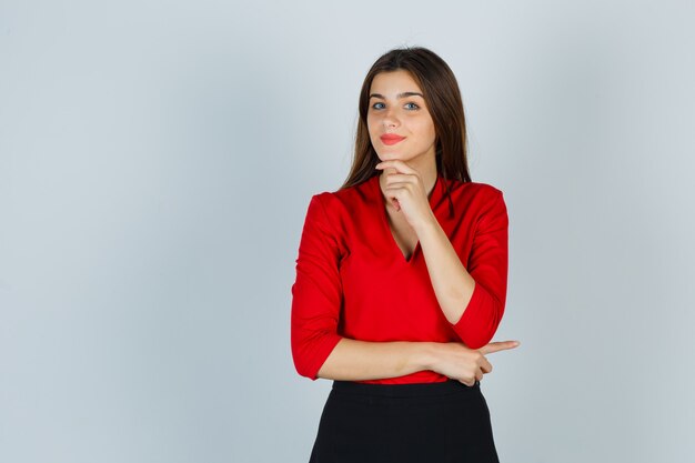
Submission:
M 365 381 L 403 376 L 430 370 L 434 346 L 430 342 L 367 342 L 343 338 L 328 356 L 318 376 Z

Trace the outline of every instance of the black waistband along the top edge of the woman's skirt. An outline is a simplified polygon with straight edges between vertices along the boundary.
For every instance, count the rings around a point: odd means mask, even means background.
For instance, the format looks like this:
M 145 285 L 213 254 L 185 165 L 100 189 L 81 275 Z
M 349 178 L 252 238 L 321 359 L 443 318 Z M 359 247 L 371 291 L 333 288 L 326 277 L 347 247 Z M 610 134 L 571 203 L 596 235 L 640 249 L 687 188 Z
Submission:
M 333 381 L 335 391 L 359 394 L 379 395 L 385 397 L 410 397 L 423 395 L 445 395 L 461 390 L 480 387 L 480 381 L 467 386 L 457 380 L 447 380 L 437 383 L 411 383 L 411 384 L 377 384 L 357 383 L 354 381 Z

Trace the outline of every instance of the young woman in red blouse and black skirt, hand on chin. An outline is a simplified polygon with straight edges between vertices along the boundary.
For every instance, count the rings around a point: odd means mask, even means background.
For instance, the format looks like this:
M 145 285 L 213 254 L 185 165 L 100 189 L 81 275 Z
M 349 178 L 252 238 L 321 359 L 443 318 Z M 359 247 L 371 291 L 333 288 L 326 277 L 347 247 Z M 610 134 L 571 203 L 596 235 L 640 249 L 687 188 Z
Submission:
M 424 48 L 360 93 L 346 181 L 312 197 L 292 285 L 299 374 L 333 380 L 310 463 L 497 462 L 480 382 L 504 312 L 502 191 L 471 180 L 461 93 Z

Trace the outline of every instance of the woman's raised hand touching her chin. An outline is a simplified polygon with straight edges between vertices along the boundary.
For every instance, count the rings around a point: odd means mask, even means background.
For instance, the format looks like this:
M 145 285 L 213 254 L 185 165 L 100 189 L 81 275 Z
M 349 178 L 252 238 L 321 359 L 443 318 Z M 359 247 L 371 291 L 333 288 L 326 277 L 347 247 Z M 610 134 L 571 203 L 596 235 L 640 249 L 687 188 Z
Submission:
M 415 230 L 427 221 L 436 220 L 420 172 L 405 161 L 389 160 L 376 164 L 385 175 L 384 193 L 396 211 L 403 212 Z

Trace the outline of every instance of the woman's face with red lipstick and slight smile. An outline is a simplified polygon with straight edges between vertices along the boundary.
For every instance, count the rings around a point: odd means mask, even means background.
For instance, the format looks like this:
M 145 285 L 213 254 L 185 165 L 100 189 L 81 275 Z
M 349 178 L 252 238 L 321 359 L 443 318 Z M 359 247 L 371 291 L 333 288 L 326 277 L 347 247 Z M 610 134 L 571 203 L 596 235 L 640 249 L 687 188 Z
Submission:
M 422 89 L 410 72 L 381 72 L 372 80 L 366 124 L 382 161 L 400 159 L 414 168 L 434 159 L 435 130 Z

